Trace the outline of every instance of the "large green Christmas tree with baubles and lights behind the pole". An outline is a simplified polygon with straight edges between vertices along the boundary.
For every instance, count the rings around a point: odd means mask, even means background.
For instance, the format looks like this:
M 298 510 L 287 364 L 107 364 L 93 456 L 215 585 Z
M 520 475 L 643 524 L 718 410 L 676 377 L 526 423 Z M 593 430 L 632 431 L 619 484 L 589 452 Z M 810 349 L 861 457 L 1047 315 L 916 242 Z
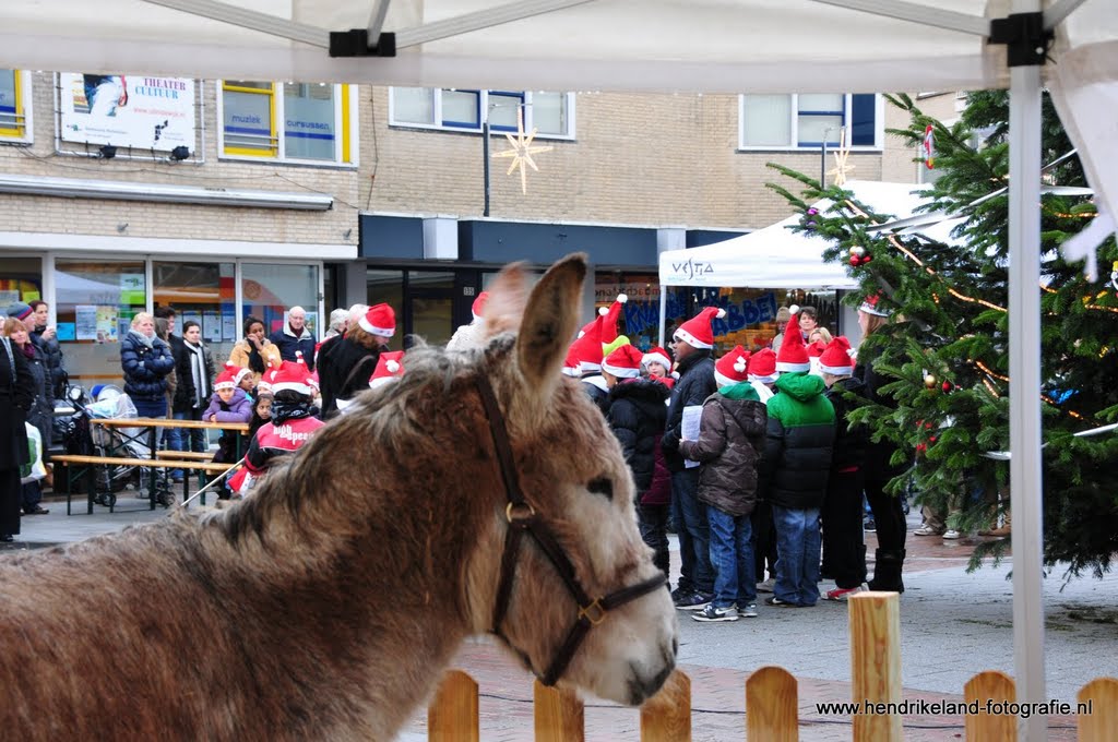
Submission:
M 890 130 L 913 149 L 934 140 L 938 171 L 923 209 L 922 231 L 874 229 L 894 215 L 874 213 L 841 187 L 776 164 L 799 193 L 770 188 L 803 212 L 799 229 L 826 239 L 824 257 L 849 264 L 861 293 L 879 296 L 893 322 L 864 342 L 874 368 L 892 381 L 894 407 L 863 405 L 851 421 L 874 439 L 899 445 L 894 463 L 910 464 L 892 491 L 911 487 L 918 502 L 949 513 L 948 527 L 992 527 L 1007 515 L 1008 466 L 1008 95 L 970 94 L 950 126 L 926 116 L 904 95 L 889 97 L 910 115 Z M 1118 273 L 1090 283 L 1059 246 L 1095 213 L 1086 179 L 1051 102 L 1043 108 L 1041 203 L 1041 378 L 1043 412 L 1044 560 L 1070 564 L 1069 575 L 1101 575 L 1118 551 L 1118 436 L 1097 431 L 1118 417 Z M 928 134 L 931 133 L 929 137 Z M 931 152 L 925 151 L 931 164 Z M 821 198 L 830 208 L 812 209 Z M 935 215 L 944 215 L 937 219 Z M 1101 265 L 1115 265 L 1108 240 Z M 1090 435 L 1076 435 L 1084 434 Z M 1007 541 L 983 543 L 972 567 L 995 559 Z

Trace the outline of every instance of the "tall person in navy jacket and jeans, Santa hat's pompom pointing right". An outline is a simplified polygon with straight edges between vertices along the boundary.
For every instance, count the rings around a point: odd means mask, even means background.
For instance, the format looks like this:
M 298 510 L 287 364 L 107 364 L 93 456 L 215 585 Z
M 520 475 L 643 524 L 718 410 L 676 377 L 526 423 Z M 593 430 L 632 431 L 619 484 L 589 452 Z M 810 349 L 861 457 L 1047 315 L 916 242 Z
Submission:
M 683 411 L 694 408 L 698 415 L 702 403 L 714 393 L 714 333 L 710 323 L 726 316 L 726 310 L 708 306 L 688 320 L 672 334 L 675 370 L 679 381 L 672 388 L 667 407 L 667 425 L 661 444 L 664 460 L 672 473 L 672 517 L 680 538 L 680 583 L 672 592 L 676 608 L 702 610 L 714 592 L 714 571 L 710 564 L 710 526 L 707 507 L 699 502 L 698 464 L 688 466 L 680 454 L 683 439 Z

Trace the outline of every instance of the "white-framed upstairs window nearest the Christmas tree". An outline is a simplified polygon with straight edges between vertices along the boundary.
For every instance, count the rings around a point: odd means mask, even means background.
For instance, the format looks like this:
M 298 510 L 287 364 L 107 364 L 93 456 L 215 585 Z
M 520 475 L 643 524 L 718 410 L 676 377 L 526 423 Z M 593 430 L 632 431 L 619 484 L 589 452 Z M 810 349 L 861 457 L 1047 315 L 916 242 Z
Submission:
M 883 132 L 877 95 L 742 95 L 739 149 L 817 149 L 839 145 L 846 127 L 852 148 L 880 149 Z

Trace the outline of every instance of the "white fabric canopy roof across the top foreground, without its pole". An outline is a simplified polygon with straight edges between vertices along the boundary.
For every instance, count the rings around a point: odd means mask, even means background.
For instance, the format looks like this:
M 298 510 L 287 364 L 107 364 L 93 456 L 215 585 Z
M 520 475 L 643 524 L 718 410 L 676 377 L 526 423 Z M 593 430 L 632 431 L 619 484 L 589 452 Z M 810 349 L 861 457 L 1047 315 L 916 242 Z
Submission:
M 1006 85 L 1004 48 L 982 36 L 987 18 L 1007 13 L 1006 0 L 860 3 L 913 20 L 833 4 L 845 1 L 524 0 L 553 10 L 442 36 L 513 6 L 391 0 L 383 29 L 397 32 L 395 58 L 331 59 L 329 31 L 366 28 L 376 0 L 4 0 L 0 67 L 550 91 Z M 1061 26 L 1057 50 L 1112 41 L 1112 0 L 1088 1 Z

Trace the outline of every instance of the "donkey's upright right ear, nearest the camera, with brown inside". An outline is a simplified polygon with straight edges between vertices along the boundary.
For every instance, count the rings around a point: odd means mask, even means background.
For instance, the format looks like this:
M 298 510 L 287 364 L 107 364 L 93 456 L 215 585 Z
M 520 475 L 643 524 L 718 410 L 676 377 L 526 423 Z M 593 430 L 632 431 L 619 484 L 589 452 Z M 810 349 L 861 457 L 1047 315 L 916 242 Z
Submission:
M 585 278 L 586 254 L 574 253 L 551 266 L 528 298 L 517 339 L 517 363 L 530 389 L 550 390 L 559 380 L 578 327 Z

